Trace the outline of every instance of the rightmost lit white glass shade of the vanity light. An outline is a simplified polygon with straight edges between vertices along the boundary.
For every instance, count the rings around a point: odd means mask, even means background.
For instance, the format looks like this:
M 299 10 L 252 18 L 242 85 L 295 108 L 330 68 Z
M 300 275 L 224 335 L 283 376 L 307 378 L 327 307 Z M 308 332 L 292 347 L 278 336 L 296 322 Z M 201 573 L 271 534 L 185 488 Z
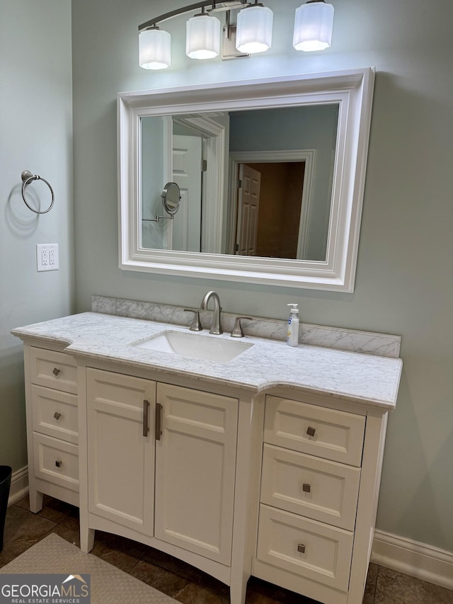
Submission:
M 323 0 L 312 1 L 296 8 L 294 38 L 296 50 L 324 50 L 331 45 L 333 6 Z

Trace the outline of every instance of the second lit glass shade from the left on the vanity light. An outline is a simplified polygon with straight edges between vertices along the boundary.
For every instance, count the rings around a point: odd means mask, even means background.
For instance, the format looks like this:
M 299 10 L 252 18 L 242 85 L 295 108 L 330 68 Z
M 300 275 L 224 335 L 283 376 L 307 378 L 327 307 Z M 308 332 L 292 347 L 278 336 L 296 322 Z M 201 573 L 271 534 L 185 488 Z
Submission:
M 217 17 L 195 15 L 186 23 L 185 54 L 191 59 L 213 59 L 220 52 L 220 30 Z

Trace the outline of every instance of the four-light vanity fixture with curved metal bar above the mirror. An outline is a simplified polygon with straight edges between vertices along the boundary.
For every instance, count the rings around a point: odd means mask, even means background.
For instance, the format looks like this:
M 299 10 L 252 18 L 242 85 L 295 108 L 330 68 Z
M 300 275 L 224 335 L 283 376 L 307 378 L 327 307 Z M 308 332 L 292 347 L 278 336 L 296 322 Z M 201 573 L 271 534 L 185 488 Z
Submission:
M 272 44 L 273 11 L 258 0 L 202 0 L 139 25 L 139 64 L 144 69 L 166 69 L 171 64 L 170 34 L 159 28 L 166 21 L 201 8 L 186 24 L 185 52 L 192 59 L 248 57 Z M 241 10 L 239 10 L 241 9 Z M 231 11 L 239 10 L 236 23 Z M 225 12 L 225 25 L 212 13 Z M 296 50 L 323 50 L 331 45 L 333 6 L 309 0 L 296 10 L 293 46 Z

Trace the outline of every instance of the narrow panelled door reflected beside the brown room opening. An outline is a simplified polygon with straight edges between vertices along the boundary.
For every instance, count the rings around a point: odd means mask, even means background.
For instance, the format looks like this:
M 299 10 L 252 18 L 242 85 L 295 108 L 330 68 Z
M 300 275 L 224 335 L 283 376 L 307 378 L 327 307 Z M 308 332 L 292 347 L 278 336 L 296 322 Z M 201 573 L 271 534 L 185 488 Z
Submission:
M 256 256 L 261 174 L 239 165 L 238 224 L 236 251 L 240 256 Z

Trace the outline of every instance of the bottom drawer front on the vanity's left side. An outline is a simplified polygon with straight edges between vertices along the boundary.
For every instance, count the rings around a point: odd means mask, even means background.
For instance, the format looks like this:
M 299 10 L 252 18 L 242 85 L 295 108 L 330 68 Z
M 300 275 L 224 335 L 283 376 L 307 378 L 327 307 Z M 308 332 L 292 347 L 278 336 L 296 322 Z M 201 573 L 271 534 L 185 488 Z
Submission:
M 79 491 L 79 447 L 33 433 L 35 477 Z

